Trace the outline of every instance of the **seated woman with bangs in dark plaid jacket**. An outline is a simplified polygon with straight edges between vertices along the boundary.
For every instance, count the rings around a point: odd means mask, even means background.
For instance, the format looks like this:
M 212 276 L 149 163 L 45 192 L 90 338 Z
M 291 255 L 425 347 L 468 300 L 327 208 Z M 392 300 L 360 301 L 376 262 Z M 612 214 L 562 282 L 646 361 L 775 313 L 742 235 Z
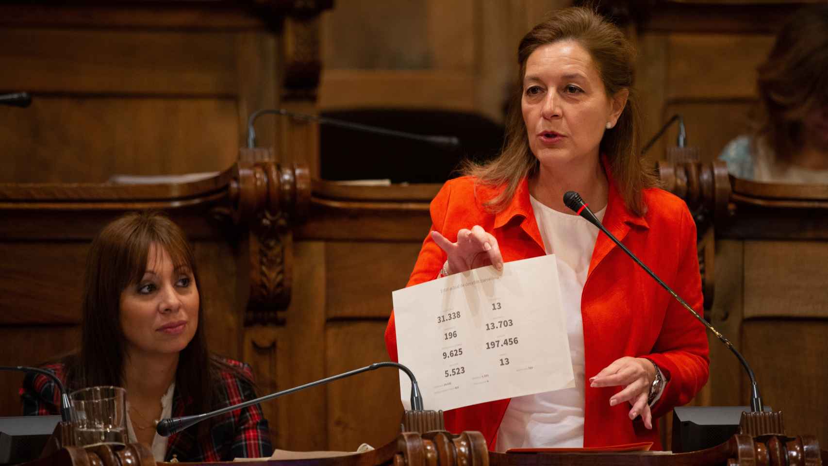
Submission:
M 44 368 L 69 392 L 127 390 L 129 442 L 151 445 L 156 461 L 229 461 L 272 454 L 260 406 L 231 411 L 169 438 L 156 420 L 213 411 L 256 398 L 244 363 L 209 353 L 192 247 L 175 223 L 134 213 L 109 223 L 89 249 L 81 347 Z M 54 415 L 60 392 L 49 377 L 27 374 L 26 416 Z

